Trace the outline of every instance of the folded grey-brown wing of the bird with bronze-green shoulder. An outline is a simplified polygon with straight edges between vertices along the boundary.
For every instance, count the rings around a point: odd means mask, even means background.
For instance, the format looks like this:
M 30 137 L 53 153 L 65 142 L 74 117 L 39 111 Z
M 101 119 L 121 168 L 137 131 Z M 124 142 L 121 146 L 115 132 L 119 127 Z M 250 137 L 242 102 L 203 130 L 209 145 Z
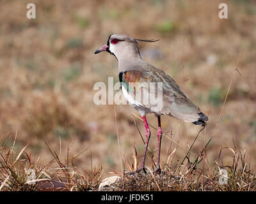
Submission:
M 124 82 L 125 85 L 131 82 L 163 83 L 163 107 L 161 110 L 155 111 L 155 113 L 159 115 L 170 115 L 176 117 L 177 119 L 184 120 L 185 122 L 195 122 L 200 118 L 198 115 L 198 113 L 200 113 L 200 109 L 189 101 L 188 97 L 180 90 L 179 85 L 177 85 L 170 76 L 166 75 L 164 71 L 161 71 L 161 69 L 157 69 L 148 64 L 147 69 L 135 68 L 125 71 L 121 75 L 122 78 L 120 78 L 120 81 Z M 155 88 L 155 92 L 157 94 L 157 86 Z M 135 89 L 132 87 L 132 89 L 127 90 L 129 91 L 129 94 L 134 96 L 134 91 L 136 91 L 136 89 L 138 89 L 138 86 L 136 86 Z M 154 106 L 152 103 L 143 105 L 145 108 L 154 110 L 154 108 L 152 108 Z

